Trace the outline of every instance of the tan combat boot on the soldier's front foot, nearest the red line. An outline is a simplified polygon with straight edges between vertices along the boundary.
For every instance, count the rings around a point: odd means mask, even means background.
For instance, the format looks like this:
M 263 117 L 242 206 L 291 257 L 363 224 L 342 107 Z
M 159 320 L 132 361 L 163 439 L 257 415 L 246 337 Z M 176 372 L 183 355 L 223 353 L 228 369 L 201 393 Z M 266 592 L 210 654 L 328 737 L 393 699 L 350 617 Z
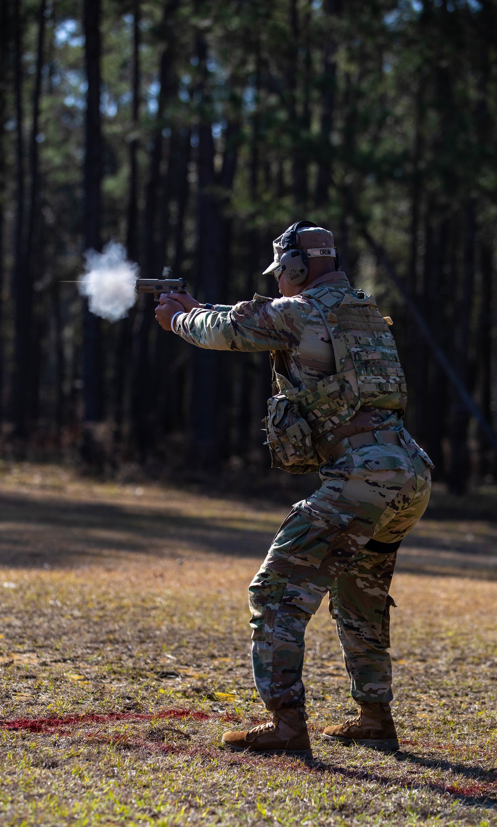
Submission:
M 225 732 L 223 743 L 233 752 L 299 755 L 312 758 L 311 742 L 305 723 L 308 716 L 303 706 L 275 710 L 272 720 L 246 732 Z

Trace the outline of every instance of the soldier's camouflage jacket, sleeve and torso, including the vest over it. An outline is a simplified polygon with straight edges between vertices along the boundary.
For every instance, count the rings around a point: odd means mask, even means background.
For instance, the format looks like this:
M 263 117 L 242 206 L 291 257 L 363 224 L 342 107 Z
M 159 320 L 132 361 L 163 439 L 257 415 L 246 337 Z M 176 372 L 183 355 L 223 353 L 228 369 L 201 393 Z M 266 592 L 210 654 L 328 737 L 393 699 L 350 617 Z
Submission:
M 299 405 L 327 459 L 344 437 L 402 427 L 407 397 L 394 338 L 363 296 L 332 273 L 291 298 L 195 308 L 177 318 L 176 332 L 198 347 L 271 351 L 273 399 L 284 394 Z

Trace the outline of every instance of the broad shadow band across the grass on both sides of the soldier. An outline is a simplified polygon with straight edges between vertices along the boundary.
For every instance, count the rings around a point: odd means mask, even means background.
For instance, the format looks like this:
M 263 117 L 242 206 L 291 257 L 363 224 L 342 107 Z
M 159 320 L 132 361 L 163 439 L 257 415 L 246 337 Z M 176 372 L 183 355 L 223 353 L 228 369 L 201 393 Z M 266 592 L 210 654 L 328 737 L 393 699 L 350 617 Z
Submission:
M 185 494 L 188 497 L 188 494 Z M 267 507 L 267 502 L 265 503 Z M 261 509 L 261 514 L 264 511 Z M 0 565 L 79 566 L 123 552 L 156 557 L 220 553 L 262 559 L 274 536 L 250 515 L 185 516 L 167 504 L 108 503 L 12 493 L 0 495 Z M 275 524 L 275 528 L 277 528 Z M 486 543 L 447 544 L 415 533 L 399 549 L 398 571 L 497 579 L 497 553 Z

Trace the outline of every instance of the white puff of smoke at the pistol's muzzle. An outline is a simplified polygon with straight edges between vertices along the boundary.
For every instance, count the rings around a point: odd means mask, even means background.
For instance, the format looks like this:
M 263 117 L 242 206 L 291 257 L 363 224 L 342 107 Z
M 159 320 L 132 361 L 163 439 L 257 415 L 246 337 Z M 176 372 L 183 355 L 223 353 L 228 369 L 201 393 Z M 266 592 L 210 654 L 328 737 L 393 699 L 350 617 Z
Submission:
M 140 268 L 127 261 L 122 244 L 109 241 L 103 252 L 87 250 L 86 273 L 79 279 L 79 293 L 88 297 L 91 312 L 109 322 L 127 316 L 136 302 L 135 282 Z

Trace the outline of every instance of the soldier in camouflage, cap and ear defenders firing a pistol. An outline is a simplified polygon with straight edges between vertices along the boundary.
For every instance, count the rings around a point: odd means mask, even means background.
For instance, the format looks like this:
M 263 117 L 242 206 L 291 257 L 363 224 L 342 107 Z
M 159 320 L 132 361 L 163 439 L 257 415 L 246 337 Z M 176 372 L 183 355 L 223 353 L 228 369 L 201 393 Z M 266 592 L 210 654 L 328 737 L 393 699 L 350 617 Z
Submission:
M 359 714 L 323 738 L 394 750 L 389 585 L 397 549 L 428 504 L 432 463 L 403 426 L 406 387 L 390 320 L 337 270 L 332 232 L 297 222 L 273 247 L 265 273 L 275 274 L 280 299 L 255 295 L 229 307 L 164 295 L 155 313 L 198 347 L 270 351 L 272 464 L 318 470 L 322 480 L 294 504 L 249 588 L 254 680 L 271 719 L 223 741 L 312 754 L 303 638 L 328 594 Z

